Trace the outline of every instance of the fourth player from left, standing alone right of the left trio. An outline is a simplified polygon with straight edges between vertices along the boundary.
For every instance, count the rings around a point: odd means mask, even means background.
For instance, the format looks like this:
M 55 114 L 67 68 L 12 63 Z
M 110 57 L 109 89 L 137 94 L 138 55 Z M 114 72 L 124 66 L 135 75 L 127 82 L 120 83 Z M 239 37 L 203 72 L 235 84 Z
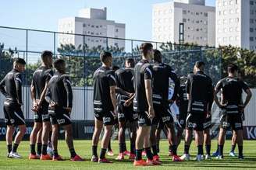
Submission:
M 91 161 L 98 163 L 112 163 L 105 158 L 105 153 L 110 141 L 112 127 L 116 120 L 116 78 L 110 69 L 112 54 L 102 51 L 100 54 L 101 68 L 94 72 L 94 134 L 92 137 Z M 101 154 L 98 158 L 98 140 L 104 126 L 104 136 L 101 141 Z

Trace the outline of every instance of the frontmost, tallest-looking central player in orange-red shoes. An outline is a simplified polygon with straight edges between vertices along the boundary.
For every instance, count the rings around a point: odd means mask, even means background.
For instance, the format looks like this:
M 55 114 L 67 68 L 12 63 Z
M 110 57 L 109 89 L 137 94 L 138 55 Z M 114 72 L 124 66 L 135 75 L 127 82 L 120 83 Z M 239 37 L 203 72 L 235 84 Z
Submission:
M 133 99 L 133 110 L 138 113 L 138 130 L 136 137 L 136 158 L 134 166 L 160 165 L 160 162 L 153 160 L 150 144 L 151 121 L 155 116 L 152 98 L 152 68 L 149 64 L 153 57 L 153 46 L 151 43 L 140 45 L 142 60 L 139 61 L 133 73 L 133 86 L 135 96 Z M 142 151 L 146 151 L 147 161 L 142 159 Z

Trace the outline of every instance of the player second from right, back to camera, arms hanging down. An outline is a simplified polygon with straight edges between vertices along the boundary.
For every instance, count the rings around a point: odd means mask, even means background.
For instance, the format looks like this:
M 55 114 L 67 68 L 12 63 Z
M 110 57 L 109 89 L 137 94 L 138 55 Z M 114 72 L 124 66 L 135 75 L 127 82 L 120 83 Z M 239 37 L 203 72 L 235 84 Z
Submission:
M 197 145 L 197 161 L 203 159 L 204 130 L 207 118 L 211 116 L 211 106 L 213 100 L 212 78 L 204 74 L 204 62 L 197 61 L 194 67 L 194 74 L 187 77 L 187 98 L 188 115 L 186 121 L 187 133 L 193 129 L 195 132 L 195 142 Z M 187 134 L 186 134 L 187 135 Z M 186 143 L 186 142 L 185 142 Z M 190 145 L 185 144 L 185 154 L 183 159 L 189 159 L 188 153 Z

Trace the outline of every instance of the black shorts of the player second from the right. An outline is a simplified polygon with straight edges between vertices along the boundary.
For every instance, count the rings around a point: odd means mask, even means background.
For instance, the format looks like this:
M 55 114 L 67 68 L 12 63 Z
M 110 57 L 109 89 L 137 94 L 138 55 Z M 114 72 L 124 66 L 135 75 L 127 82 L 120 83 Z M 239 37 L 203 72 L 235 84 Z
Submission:
M 186 119 L 187 130 L 204 130 L 205 115 L 200 113 L 188 113 Z

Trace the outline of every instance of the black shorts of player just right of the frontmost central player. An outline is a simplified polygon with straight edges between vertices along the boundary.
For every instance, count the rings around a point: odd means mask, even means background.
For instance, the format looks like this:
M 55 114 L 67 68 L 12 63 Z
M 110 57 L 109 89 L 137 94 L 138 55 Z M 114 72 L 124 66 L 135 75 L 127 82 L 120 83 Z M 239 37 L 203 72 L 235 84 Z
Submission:
M 155 117 L 152 121 L 153 125 L 158 125 L 159 123 L 163 123 L 163 125 L 168 123 L 173 123 L 172 113 L 169 108 L 165 108 L 163 106 L 154 106 Z M 158 127 L 162 127 L 159 125 Z

